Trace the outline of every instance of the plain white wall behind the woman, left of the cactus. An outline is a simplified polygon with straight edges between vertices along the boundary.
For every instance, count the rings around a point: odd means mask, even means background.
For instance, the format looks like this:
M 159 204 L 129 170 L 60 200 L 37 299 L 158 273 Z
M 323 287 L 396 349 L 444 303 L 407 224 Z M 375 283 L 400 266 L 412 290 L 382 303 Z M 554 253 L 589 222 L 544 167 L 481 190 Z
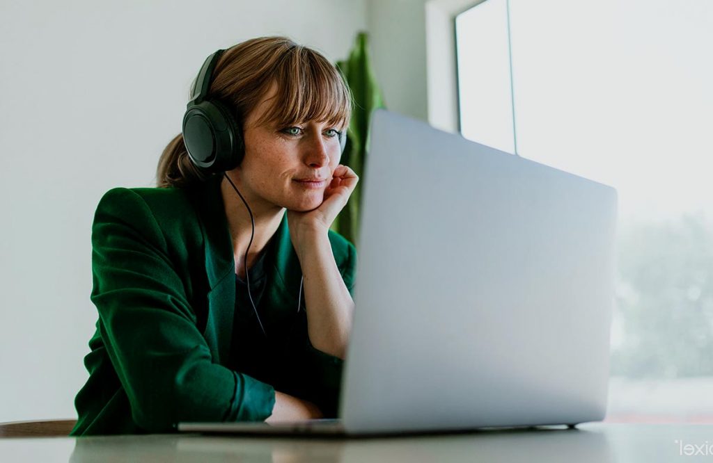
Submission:
M 205 57 L 284 34 L 336 61 L 365 26 L 366 0 L 0 3 L 0 422 L 75 416 L 94 209 L 153 185 Z

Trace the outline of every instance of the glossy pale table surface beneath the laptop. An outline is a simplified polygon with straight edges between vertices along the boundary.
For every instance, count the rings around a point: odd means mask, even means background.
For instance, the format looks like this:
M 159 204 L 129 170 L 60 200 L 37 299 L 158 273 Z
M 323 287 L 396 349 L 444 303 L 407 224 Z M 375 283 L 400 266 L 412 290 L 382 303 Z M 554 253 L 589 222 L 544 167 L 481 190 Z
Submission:
M 0 439 L 0 461 L 713 462 L 713 425 L 590 423 L 577 430 L 549 427 L 372 439 L 203 435 Z

